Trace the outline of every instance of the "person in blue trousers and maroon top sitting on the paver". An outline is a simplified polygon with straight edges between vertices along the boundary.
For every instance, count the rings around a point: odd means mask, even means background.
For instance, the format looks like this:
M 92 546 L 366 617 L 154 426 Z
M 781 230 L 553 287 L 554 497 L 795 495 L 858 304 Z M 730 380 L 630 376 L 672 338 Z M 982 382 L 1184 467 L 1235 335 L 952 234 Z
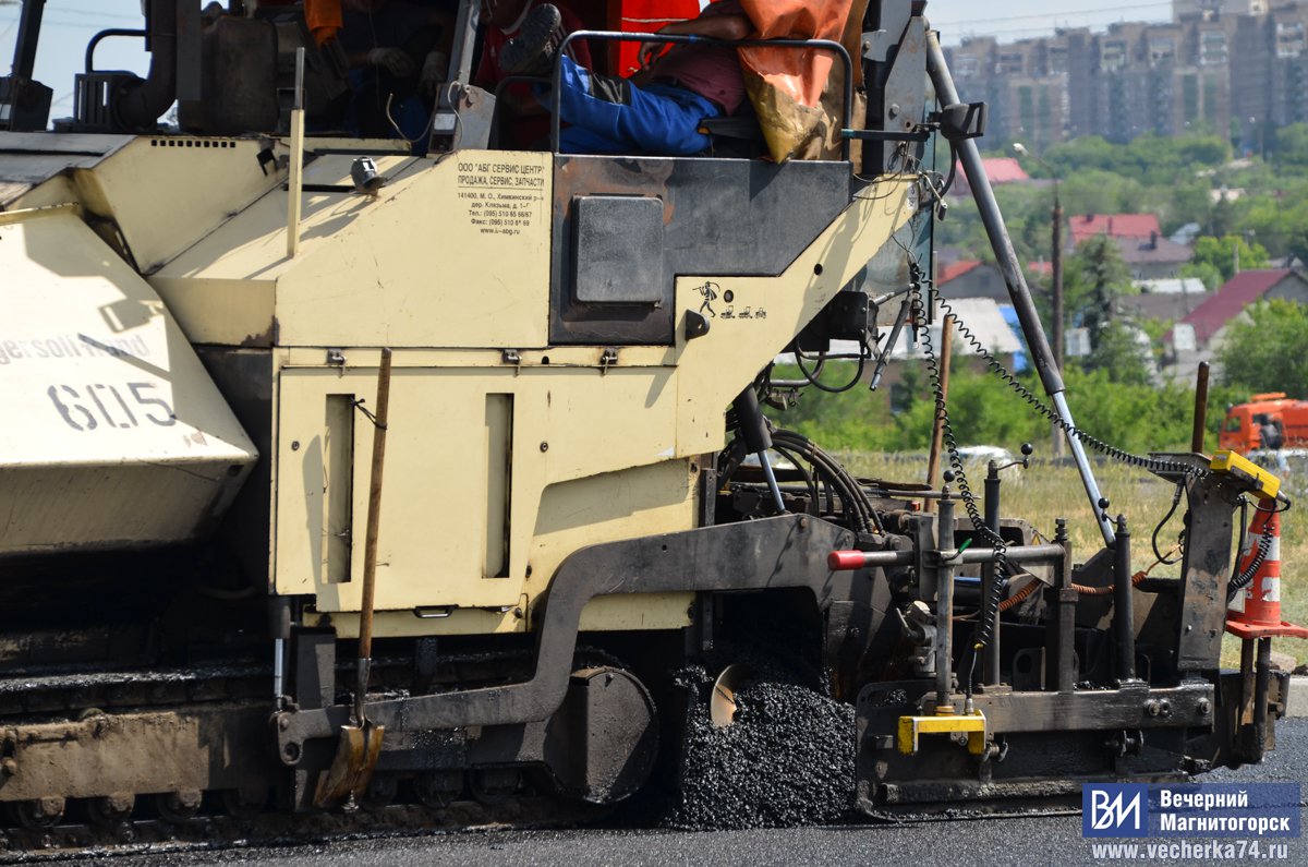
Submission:
M 700 17 L 659 30 L 723 41 L 744 39 L 752 31 L 738 0 L 712 3 Z M 500 52 L 502 72 L 547 75 L 562 34 L 559 9 L 548 3 L 536 7 Z M 570 124 L 560 135 L 560 149 L 672 156 L 706 151 L 709 138 L 700 132 L 704 119 L 732 114 L 746 100 L 735 48 L 678 45 L 659 56 L 664 46 L 642 46 L 641 69 L 630 79 L 594 73 L 566 55 L 560 58 L 559 117 Z

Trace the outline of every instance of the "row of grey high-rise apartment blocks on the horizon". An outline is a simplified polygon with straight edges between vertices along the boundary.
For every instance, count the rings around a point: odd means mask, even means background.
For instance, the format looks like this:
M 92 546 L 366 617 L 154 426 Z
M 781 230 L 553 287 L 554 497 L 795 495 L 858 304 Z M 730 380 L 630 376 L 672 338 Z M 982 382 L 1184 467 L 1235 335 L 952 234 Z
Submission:
M 1308 122 L 1308 0 L 1175 0 L 1171 22 L 948 50 L 959 92 L 990 103 L 990 136 L 1041 148 L 1078 135 L 1235 132 L 1249 151 Z

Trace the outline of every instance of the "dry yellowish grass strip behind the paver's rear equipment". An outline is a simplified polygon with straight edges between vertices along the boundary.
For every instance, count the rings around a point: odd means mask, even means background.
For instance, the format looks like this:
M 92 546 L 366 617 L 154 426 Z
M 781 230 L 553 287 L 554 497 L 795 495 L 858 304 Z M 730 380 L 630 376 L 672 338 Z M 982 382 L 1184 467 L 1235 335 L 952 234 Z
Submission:
M 846 465 L 857 475 L 895 481 L 925 481 L 926 460 L 922 454 L 842 454 Z M 980 496 L 985 464 L 969 465 L 968 479 Z M 1046 537 L 1054 532 L 1054 519 L 1066 517 L 1071 536 L 1073 550 L 1078 561 L 1084 561 L 1092 551 L 1103 546 L 1099 529 L 1090 509 L 1090 502 L 1080 486 L 1080 477 L 1070 464 L 1050 464 L 1032 461 L 1029 469 L 1014 468 L 1006 470 L 1003 485 L 1003 513 L 1006 517 L 1022 517 L 1031 521 Z M 1167 513 L 1172 503 L 1172 486 L 1144 470 L 1122 464 L 1099 464 L 1095 475 L 1104 496 L 1112 506 L 1109 512 L 1122 512 L 1131 528 L 1131 563 L 1135 568 L 1147 567 L 1154 562 L 1150 536 L 1154 525 Z M 1179 513 L 1159 536 L 1159 546 L 1176 541 L 1181 529 L 1182 500 Z M 1282 618 L 1291 623 L 1308 625 L 1308 579 L 1301 575 L 1303 564 L 1308 563 L 1308 500 L 1304 506 L 1292 508 L 1281 516 L 1281 606 Z M 1179 566 L 1159 566 L 1155 575 L 1179 575 Z M 1308 640 L 1279 638 L 1273 648 L 1291 654 L 1299 663 L 1308 661 Z M 1240 644 L 1227 635 L 1222 654 L 1223 664 L 1236 665 L 1240 660 Z

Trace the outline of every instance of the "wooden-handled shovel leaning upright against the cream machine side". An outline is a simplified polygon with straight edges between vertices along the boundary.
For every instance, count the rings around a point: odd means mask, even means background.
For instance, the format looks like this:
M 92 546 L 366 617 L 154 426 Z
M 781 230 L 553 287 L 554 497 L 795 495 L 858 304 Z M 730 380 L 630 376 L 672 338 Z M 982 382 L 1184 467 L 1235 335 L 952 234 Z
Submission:
M 364 601 L 358 613 L 358 682 L 354 686 L 353 726 L 340 727 L 336 757 L 318 781 L 314 803 L 324 807 L 341 798 L 351 802 L 362 796 L 373 779 L 377 758 L 382 754 L 386 727 L 368 719 L 364 703 L 368 674 L 373 667 L 373 595 L 377 584 L 377 528 L 382 513 L 382 462 L 386 458 L 386 416 L 391 398 L 391 350 L 382 348 L 377 375 L 377 414 L 373 415 L 373 466 L 368 490 L 368 536 L 364 540 Z M 366 410 L 365 410 L 366 413 Z

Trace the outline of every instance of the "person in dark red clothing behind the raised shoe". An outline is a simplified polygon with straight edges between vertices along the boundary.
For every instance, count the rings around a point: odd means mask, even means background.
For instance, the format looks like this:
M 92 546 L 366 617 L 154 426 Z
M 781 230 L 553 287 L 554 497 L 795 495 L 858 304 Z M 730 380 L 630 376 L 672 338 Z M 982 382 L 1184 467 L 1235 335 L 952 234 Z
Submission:
M 506 77 L 500 68 L 500 52 L 509 42 L 519 38 L 527 16 L 543 4 L 544 0 L 481 0 L 485 35 L 481 42 L 481 62 L 472 77 L 477 86 L 496 92 Z M 562 33 L 585 29 L 582 20 L 566 5 L 560 3 L 555 8 L 559 10 Z M 590 46 L 585 39 L 570 43 L 568 51 L 579 65 L 591 68 Z M 505 120 L 508 144 L 532 149 L 549 147 L 549 113 L 530 85 L 515 84 L 501 90 L 498 113 Z

